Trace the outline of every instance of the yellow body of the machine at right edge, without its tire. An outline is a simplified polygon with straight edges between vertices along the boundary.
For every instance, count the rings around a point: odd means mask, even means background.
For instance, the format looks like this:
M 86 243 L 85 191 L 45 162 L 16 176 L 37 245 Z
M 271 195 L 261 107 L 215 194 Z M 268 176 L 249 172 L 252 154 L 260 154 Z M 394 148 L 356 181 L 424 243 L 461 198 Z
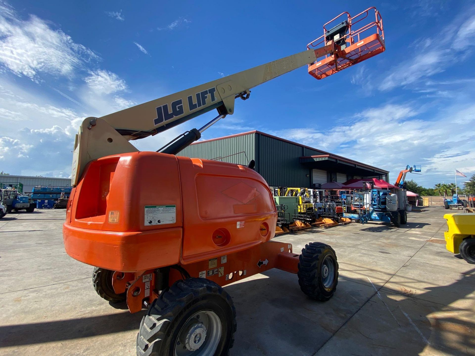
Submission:
M 458 246 L 466 237 L 475 237 L 475 214 L 452 213 L 444 215 L 448 231 L 444 233 L 446 248 L 452 253 L 459 253 Z

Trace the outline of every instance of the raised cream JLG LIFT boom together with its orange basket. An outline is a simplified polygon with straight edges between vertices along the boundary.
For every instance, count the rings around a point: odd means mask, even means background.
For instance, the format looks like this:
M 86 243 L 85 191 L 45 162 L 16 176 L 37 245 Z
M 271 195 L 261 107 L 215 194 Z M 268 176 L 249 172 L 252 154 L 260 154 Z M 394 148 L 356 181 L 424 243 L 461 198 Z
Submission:
M 335 23 L 336 26 L 329 28 Z M 376 8 L 353 17 L 343 12 L 324 24 L 323 35 L 309 43 L 303 52 L 100 118 L 88 117 L 76 135 L 72 185 L 76 186 L 90 161 L 138 151 L 129 140 L 155 135 L 217 109 L 218 116 L 208 124 L 185 132 L 158 150 L 176 154 L 198 140 L 201 132 L 213 123 L 232 115 L 235 99 L 246 100 L 251 88 L 305 65 L 310 75 L 322 79 L 376 56 L 385 48 L 382 18 Z

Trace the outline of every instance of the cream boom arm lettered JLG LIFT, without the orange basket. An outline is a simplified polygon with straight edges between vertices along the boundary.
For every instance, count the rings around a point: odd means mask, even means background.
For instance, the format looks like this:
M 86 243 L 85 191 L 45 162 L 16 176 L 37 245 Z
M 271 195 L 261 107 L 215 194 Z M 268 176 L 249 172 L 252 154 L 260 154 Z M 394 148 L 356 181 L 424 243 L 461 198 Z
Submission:
M 76 135 L 72 185 L 77 184 L 86 164 L 91 160 L 138 151 L 129 140 L 155 135 L 213 109 L 217 109 L 219 114 L 214 122 L 232 115 L 235 99 L 247 99 L 251 88 L 308 65 L 333 51 L 333 41 L 330 41 L 318 49 L 305 50 L 100 118 L 86 118 Z M 199 131 L 204 131 L 210 124 Z M 195 134 L 193 141 L 199 139 L 199 131 L 192 131 Z M 166 150 L 164 152 L 172 153 Z

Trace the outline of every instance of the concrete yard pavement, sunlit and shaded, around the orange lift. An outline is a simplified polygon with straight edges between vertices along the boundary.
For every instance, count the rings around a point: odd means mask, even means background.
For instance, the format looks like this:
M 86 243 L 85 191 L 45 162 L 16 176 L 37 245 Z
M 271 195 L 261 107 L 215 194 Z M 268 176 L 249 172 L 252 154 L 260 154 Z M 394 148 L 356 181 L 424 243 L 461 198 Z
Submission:
M 331 244 L 334 297 L 308 299 L 297 276 L 270 270 L 225 289 L 237 309 L 231 356 L 475 355 L 475 265 L 445 249 L 443 208 L 401 228 L 368 223 L 276 237 L 299 251 Z M 0 355 L 134 355 L 142 315 L 94 291 L 92 267 L 66 255 L 64 210 L 0 220 Z

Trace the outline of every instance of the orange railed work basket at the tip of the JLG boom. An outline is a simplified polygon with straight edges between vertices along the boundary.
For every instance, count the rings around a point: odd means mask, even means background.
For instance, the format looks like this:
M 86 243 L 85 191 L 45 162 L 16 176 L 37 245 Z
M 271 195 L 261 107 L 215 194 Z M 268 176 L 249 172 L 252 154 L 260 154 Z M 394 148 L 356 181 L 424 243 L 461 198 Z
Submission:
M 331 25 L 334 26 L 330 28 Z M 384 52 L 383 20 L 379 11 L 371 7 L 353 17 L 343 12 L 323 25 L 323 35 L 310 42 L 307 49 L 327 45 L 332 40 L 333 54 L 317 58 L 308 65 L 308 73 L 316 79 L 326 78 Z

